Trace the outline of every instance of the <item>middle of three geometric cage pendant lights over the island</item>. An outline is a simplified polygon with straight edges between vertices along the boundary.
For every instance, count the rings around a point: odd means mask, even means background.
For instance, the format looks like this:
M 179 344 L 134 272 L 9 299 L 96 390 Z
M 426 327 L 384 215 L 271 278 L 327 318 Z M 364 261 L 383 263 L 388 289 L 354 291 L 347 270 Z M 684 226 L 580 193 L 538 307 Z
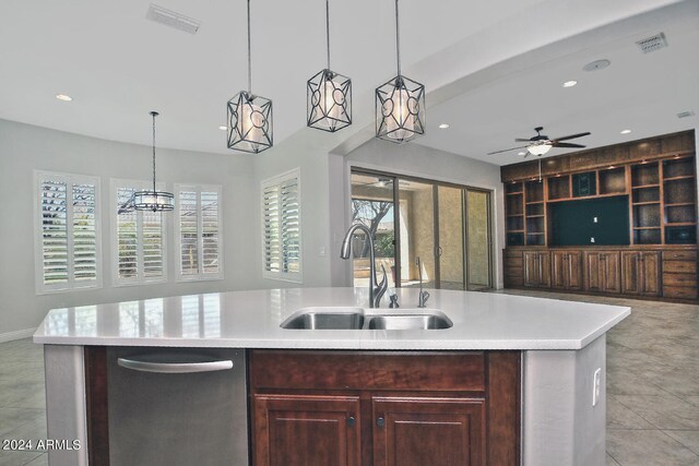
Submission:
M 307 83 L 307 126 L 331 133 L 352 124 L 352 80 L 330 70 L 330 5 L 325 0 L 328 68 Z

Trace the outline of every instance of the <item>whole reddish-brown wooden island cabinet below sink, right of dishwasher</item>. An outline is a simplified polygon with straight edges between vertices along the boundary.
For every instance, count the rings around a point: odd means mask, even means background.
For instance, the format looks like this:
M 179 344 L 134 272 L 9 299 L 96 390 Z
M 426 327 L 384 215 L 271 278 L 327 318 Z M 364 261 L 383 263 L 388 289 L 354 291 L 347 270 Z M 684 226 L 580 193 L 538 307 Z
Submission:
M 252 350 L 253 465 L 517 465 L 519 351 Z

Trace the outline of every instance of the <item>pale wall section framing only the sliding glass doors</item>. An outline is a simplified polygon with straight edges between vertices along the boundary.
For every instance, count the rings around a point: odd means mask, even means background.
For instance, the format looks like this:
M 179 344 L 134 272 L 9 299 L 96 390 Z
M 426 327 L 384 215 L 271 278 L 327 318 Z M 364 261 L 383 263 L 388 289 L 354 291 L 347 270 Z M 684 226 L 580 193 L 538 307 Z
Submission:
M 331 156 L 340 157 L 340 156 Z M 433 180 L 483 188 L 494 192 L 491 198 L 493 241 L 494 241 L 494 276 L 495 285 L 502 286 L 501 254 L 505 247 L 505 222 L 502 183 L 500 167 L 452 153 L 425 147 L 416 143 L 393 144 L 371 139 L 345 156 L 344 164 L 333 159 L 329 171 L 331 204 L 343 206 L 343 212 L 334 207 L 331 225 L 332 250 L 340 251 L 344 231 L 348 227 L 350 214 L 350 171 L 352 167 L 364 167 L 392 174 L 407 175 Z M 342 217 L 341 217 L 342 215 Z M 344 223 L 340 219 L 344 218 Z M 332 282 L 334 285 L 351 283 L 350 265 L 340 262 L 336 254 L 331 256 Z

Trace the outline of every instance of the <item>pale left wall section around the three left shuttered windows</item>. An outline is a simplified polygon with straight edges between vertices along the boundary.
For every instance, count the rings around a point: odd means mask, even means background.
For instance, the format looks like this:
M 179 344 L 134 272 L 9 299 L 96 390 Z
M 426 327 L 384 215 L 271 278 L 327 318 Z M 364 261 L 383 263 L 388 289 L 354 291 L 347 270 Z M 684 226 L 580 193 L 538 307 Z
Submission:
M 98 176 L 102 189 L 103 288 L 37 296 L 34 284 L 34 170 Z M 157 151 L 157 179 L 223 186 L 225 278 L 176 283 L 174 229 L 168 237 L 168 282 L 114 287 L 111 274 L 109 178 L 149 179 L 151 147 L 86 138 L 0 120 L 0 342 L 31 335 L 51 308 L 187 295 L 256 285 L 249 266 L 257 241 L 250 217 L 259 205 L 253 164 L 247 155 Z M 171 215 L 171 214 L 164 214 Z

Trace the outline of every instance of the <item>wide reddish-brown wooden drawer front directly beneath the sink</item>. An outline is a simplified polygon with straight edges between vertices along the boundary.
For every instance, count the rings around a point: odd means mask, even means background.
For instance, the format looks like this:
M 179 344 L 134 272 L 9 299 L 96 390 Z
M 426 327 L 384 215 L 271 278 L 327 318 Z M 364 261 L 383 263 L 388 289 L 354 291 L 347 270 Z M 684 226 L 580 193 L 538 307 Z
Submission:
M 485 391 L 483 351 L 253 350 L 254 389 Z

